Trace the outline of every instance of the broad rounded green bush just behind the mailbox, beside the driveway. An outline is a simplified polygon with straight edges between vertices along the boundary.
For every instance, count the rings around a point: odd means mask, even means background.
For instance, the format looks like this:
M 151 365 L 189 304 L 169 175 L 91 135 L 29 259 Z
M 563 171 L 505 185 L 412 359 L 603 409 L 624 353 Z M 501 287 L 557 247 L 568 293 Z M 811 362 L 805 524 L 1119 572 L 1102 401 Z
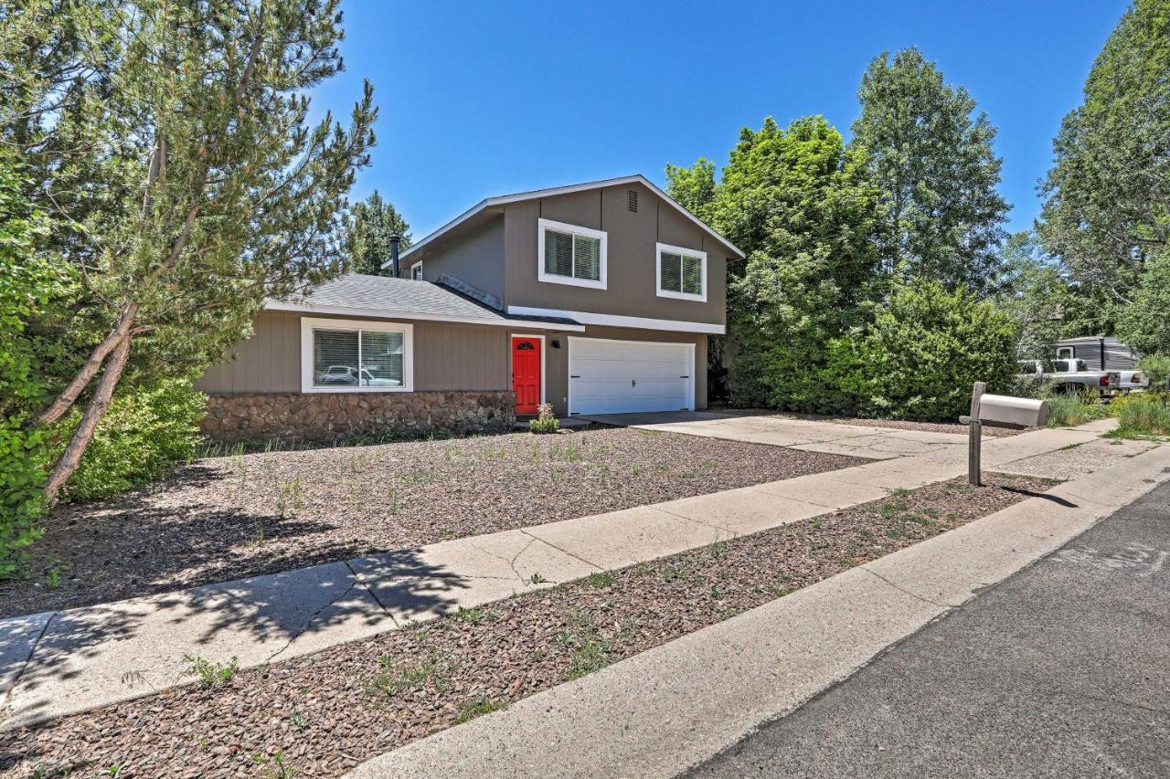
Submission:
M 1007 391 L 1018 375 L 1016 325 L 966 289 L 935 282 L 894 291 L 872 324 L 827 345 L 821 385 L 831 411 L 865 416 L 955 421 L 971 388 Z

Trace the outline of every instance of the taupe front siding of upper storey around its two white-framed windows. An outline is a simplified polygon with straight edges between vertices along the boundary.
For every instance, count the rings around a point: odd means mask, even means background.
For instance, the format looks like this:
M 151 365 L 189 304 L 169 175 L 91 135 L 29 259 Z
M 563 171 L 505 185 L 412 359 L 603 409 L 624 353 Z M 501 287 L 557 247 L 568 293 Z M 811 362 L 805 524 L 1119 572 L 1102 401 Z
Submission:
M 627 207 L 629 189 L 638 192 L 636 213 Z M 607 233 L 606 289 L 537 281 L 537 220 L 541 218 Z M 658 296 L 656 242 L 707 253 L 706 303 Z M 504 249 L 508 257 L 504 302 L 508 305 L 725 323 L 727 258 L 732 256 L 731 250 L 641 185 L 509 204 L 504 208 Z M 641 338 L 651 338 L 651 332 L 642 332 Z

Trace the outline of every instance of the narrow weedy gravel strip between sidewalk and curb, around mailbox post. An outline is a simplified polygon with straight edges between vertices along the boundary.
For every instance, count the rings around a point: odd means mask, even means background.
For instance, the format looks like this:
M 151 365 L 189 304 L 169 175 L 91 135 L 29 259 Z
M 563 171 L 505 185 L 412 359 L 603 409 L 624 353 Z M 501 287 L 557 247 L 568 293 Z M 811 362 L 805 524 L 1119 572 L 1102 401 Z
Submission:
M 211 668 L 206 687 L 5 732 L 0 770 L 90 777 L 115 767 L 123 779 L 340 775 L 1052 484 L 987 481 L 896 494 L 262 669 L 216 675 Z

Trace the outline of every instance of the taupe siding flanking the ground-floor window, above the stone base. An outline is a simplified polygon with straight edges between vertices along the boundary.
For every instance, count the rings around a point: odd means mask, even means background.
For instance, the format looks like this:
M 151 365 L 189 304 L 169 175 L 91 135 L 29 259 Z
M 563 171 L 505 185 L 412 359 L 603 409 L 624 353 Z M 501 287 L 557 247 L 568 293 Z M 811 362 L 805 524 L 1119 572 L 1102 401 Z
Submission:
M 253 336 L 232 349 L 227 359 L 208 370 L 195 387 L 209 394 L 301 392 L 301 316 L 289 311 L 261 313 Z M 510 388 L 507 328 L 413 324 L 415 389 Z

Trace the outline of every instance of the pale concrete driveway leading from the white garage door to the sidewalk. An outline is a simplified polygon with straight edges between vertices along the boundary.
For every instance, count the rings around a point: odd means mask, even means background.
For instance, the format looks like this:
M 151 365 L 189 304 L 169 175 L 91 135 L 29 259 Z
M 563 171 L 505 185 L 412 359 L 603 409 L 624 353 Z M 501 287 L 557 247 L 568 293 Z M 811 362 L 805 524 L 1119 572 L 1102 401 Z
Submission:
M 701 435 L 729 441 L 769 443 L 777 447 L 892 460 L 938 450 L 964 450 L 964 433 L 928 433 L 890 427 L 863 427 L 841 422 L 791 419 L 772 414 L 729 412 L 654 412 L 646 414 L 599 414 L 589 419 L 604 425 Z

